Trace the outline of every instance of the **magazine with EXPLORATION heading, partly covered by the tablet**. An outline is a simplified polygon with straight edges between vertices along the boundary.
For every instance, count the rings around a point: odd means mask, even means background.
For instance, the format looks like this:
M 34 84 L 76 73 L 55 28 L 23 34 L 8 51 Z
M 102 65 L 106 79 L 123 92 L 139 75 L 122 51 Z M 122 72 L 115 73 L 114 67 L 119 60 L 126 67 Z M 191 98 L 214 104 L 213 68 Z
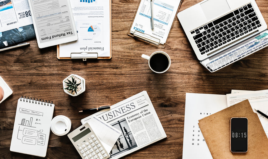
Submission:
M 0 2 L 0 48 L 35 38 L 28 0 Z

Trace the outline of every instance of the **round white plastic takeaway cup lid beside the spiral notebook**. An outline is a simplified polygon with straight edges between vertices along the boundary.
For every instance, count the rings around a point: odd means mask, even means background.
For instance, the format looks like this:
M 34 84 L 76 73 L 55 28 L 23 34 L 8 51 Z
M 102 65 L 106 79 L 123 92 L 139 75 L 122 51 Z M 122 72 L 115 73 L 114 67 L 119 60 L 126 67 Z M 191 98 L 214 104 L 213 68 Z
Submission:
M 71 129 L 71 120 L 66 116 L 55 116 L 51 120 L 51 131 L 58 136 L 67 134 Z

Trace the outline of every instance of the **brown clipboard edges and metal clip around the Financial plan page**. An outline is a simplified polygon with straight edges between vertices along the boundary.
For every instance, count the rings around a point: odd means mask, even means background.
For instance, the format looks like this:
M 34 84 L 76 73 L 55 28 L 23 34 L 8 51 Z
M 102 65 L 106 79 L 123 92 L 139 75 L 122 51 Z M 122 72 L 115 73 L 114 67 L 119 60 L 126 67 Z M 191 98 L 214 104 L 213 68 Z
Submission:
M 80 1 L 81 2 L 81 1 Z M 84 1 L 83 1 L 84 2 Z M 99 57 L 98 52 L 70 52 L 70 57 L 60 57 L 60 45 L 57 45 L 57 58 L 60 60 L 64 59 L 111 59 L 112 58 L 112 2 L 110 4 L 110 55 L 108 57 Z

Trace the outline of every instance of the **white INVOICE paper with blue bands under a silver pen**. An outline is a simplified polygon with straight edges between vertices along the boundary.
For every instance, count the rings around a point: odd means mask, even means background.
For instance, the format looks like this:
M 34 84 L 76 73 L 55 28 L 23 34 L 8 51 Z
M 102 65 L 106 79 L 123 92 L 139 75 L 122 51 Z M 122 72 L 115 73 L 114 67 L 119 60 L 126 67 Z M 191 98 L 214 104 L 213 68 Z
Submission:
M 166 43 L 180 0 L 153 0 L 154 29 L 151 29 L 151 1 L 141 0 L 130 33 L 135 30 Z

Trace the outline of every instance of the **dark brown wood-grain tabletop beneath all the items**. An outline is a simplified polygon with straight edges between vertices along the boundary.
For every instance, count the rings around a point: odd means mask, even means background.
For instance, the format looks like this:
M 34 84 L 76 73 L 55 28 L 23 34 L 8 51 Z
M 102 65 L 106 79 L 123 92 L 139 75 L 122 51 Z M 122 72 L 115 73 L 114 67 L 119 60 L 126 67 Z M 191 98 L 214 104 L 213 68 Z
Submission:
M 182 11 L 201 0 L 184 0 Z M 184 132 L 185 93 L 227 94 L 231 89 L 262 90 L 268 85 L 268 47 L 215 73 L 204 68 L 195 56 L 176 18 L 165 48 L 158 48 L 127 35 L 139 0 L 112 0 L 112 59 L 58 60 L 56 46 L 39 49 L 36 39 L 30 46 L 0 53 L 0 75 L 13 94 L 0 104 L 0 158 L 39 158 L 10 152 L 17 100 L 23 95 L 52 100 L 54 116 L 65 115 L 72 128 L 88 115 L 79 110 L 115 104 L 146 90 L 163 125 L 167 138 L 122 158 L 181 159 Z M 268 4 L 256 0 L 266 22 Z M 142 54 L 167 52 L 170 69 L 153 73 Z M 77 74 L 86 80 L 86 91 L 77 97 L 64 93 L 62 80 Z M 194 100 L 194 99 L 193 99 Z M 47 159 L 77 158 L 79 154 L 67 135 L 50 133 Z

